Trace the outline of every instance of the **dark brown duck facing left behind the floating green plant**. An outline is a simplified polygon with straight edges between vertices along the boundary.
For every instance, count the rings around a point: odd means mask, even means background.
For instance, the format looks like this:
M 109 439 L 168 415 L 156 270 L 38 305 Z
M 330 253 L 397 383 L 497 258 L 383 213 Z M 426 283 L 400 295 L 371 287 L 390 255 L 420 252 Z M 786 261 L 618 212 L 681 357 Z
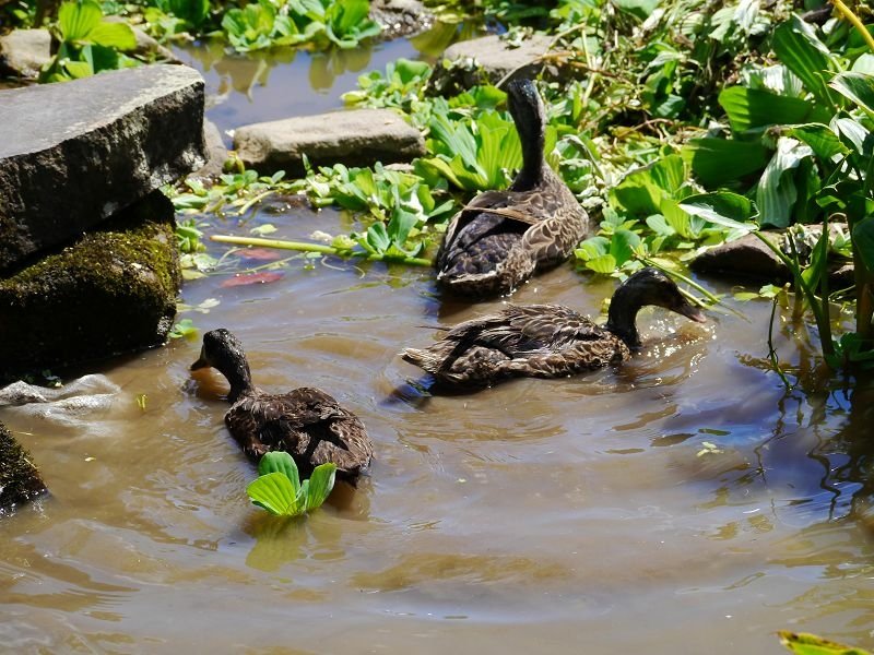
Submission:
M 191 370 L 209 367 L 231 384 L 225 425 L 252 461 L 270 451 L 286 451 L 302 477 L 331 462 L 336 465 L 338 478 L 353 485 L 369 466 L 374 445 L 357 416 L 320 389 L 302 386 L 269 394 L 256 388 L 243 344 L 224 327 L 203 335 L 200 357 Z

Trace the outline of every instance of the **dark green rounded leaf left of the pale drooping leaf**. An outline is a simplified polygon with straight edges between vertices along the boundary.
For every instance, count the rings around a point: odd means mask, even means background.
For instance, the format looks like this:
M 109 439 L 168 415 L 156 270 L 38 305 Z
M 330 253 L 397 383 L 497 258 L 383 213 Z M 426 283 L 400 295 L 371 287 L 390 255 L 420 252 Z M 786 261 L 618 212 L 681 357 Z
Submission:
M 758 141 L 696 139 L 682 151 L 695 177 L 708 187 L 719 187 L 761 171 L 768 151 Z

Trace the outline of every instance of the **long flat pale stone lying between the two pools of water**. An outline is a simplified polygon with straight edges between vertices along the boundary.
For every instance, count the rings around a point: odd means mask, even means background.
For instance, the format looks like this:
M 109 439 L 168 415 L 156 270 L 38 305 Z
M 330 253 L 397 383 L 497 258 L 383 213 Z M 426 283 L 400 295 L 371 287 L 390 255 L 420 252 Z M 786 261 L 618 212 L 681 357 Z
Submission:
M 389 109 L 354 109 L 302 116 L 239 128 L 234 148 L 246 166 L 261 172 L 304 172 L 314 166 L 409 162 L 425 154 L 418 130 Z

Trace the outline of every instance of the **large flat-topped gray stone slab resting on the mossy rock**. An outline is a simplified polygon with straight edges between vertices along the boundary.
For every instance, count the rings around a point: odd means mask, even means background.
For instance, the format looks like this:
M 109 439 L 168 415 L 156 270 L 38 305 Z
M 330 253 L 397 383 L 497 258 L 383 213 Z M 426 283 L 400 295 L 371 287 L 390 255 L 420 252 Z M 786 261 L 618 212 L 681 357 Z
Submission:
M 203 79 L 145 66 L 0 92 L 0 271 L 203 164 Z

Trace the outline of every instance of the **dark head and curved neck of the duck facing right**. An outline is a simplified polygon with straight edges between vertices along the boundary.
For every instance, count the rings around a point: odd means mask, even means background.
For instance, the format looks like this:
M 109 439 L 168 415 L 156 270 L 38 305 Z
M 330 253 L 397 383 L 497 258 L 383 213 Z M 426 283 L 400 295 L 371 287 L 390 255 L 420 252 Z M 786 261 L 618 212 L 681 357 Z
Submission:
M 707 318 L 680 293 L 673 279 L 657 269 L 638 271 L 619 285 L 610 301 L 606 329 L 623 340 L 628 347 L 640 346 L 635 320 L 641 307 L 656 305 L 675 311 L 696 323 Z

